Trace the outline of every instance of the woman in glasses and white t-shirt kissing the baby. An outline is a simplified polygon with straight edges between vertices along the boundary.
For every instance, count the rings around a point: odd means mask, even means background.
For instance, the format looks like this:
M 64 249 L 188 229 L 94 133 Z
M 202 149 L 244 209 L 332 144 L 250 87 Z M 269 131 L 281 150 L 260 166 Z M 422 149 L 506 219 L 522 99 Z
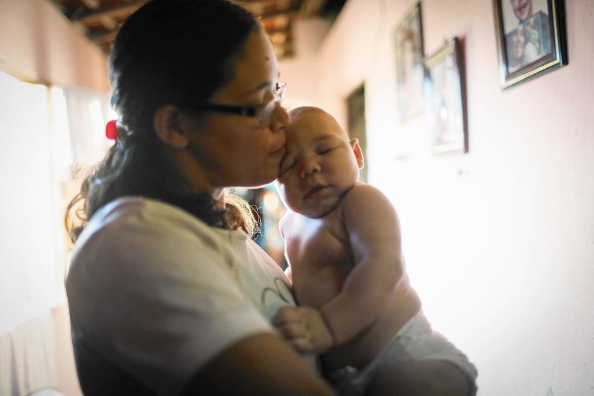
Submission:
M 154 0 L 122 26 L 116 143 L 67 214 L 84 203 L 67 293 L 85 394 L 331 394 L 272 330 L 288 281 L 225 193 L 276 178 L 278 76 L 226 0 Z

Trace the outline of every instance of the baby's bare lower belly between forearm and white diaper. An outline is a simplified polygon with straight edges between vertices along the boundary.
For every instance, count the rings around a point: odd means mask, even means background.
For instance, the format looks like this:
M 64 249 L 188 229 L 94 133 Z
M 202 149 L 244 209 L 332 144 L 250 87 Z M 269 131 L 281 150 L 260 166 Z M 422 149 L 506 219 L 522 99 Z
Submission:
M 405 284 L 401 283 L 397 290 L 394 290 L 388 309 L 374 324 L 346 344 L 324 353 L 322 360 L 325 368 L 364 368 L 420 309 L 421 300 L 415 290 L 409 287 L 408 281 Z

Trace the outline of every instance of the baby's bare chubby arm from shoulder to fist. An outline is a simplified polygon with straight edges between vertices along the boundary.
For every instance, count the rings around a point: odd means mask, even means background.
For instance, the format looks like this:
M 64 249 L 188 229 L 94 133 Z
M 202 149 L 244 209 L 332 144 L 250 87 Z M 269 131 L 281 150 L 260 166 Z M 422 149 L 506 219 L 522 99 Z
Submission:
M 283 307 L 273 318 L 283 336 L 302 352 L 324 352 L 369 327 L 386 309 L 402 277 L 400 225 L 386 196 L 374 187 L 357 185 L 342 202 L 342 211 L 355 258 L 342 292 L 320 311 Z

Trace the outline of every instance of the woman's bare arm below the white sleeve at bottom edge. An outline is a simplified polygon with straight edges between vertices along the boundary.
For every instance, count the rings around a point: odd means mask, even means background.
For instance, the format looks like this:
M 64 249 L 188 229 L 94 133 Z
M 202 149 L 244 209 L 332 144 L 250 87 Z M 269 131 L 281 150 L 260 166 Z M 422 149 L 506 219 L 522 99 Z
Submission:
M 183 395 L 333 395 L 293 350 L 271 333 L 252 335 L 217 354 Z

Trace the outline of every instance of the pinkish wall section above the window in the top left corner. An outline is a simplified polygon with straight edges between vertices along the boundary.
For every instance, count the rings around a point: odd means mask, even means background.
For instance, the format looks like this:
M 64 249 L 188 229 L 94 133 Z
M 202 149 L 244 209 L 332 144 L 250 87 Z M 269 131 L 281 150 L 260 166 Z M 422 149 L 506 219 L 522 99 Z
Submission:
M 48 0 L 0 0 L 0 70 L 33 83 L 109 90 L 106 56 Z

